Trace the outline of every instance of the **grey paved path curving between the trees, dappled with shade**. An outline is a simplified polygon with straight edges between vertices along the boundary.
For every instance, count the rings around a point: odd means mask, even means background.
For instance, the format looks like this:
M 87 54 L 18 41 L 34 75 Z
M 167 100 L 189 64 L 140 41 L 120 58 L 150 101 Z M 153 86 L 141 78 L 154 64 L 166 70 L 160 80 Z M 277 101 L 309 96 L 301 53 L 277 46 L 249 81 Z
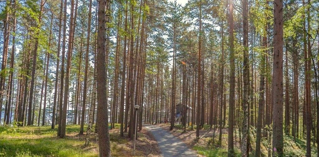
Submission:
M 154 135 L 163 157 L 197 157 L 186 144 L 170 132 L 156 125 L 143 125 Z

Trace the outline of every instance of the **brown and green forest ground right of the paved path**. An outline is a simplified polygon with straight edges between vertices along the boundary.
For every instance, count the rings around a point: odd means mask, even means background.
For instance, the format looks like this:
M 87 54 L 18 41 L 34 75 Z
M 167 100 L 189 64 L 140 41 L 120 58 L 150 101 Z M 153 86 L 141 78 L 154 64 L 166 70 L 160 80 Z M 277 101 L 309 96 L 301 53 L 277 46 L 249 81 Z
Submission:
M 228 129 L 222 130 L 222 141 L 219 142 L 219 129 L 214 126 L 210 129 L 210 125 L 204 125 L 204 129 L 200 130 L 200 139 L 196 139 L 196 125 L 186 127 L 186 132 L 182 129 L 182 125 L 176 124 L 173 130 L 169 130 L 170 124 L 157 124 L 165 128 L 167 131 L 182 139 L 191 149 L 196 150 L 198 154 L 206 157 L 227 157 L 228 147 Z M 218 127 L 218 126 L 217 126 Z M 213 138 L 215 137 L 215 138 Z M 238 129 L 234 129 L 234 152 L 236 157 L 241 157 L 240 137 Z M 251 127 L 250 133 L 250 154 L 255 156 L 256 147 L 256 128 Z M 268 152 L 271 151 L 271 141 L 267 138 L 262 138 L 261 141 L 261 156 L 268 157 Z M 306 141 L 302 139 L 293 140 L 292 136 L 284 136 L 284 153 L 289 157 L 303 157 L 306 154 Z M 312 146 L 312 156 L 317 156 L 316 146 Z

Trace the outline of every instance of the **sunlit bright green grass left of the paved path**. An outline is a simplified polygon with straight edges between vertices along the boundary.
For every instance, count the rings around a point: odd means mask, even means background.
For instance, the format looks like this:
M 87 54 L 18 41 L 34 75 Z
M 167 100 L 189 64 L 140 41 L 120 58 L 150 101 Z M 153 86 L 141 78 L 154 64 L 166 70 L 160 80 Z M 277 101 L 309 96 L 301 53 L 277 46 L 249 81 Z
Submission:
M 84 126 L 84 128 L 86 128 Z M 94 127 L 94 126 L 93 126 Z M 120 124 L 115 124 L 120 128 Z M 56 129 L 51 126 L 0 127 L 0 157 L 97 157 L 98 145 L 91 142 L 84 147 L 84 136 L 78 136 L 80 125 L 67 125 L 66 133 L 71 135 L 64 139 L 56 137 Z M 86 129 L 84 130 L 86 131 Z M 113 143 L 122 144 L 127 139 L 118 133 L 110 133 Z M 115 145 L 115 144 L 114 144 Z M 118 148 L 117 150 L 121 150 Z

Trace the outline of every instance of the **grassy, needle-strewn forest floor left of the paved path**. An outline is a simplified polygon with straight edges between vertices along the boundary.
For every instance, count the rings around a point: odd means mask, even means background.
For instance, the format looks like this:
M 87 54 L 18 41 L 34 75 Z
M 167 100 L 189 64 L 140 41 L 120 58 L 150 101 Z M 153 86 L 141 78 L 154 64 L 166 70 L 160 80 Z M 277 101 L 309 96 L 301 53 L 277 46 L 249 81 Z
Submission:
M 86 128 L 87 126 L 85 126 Z M 112 156 L 131 157 L 134 141 L 121 138 L 119 124 L 110 130 Z M 86 130 L 86 129 L 85 129 Z M 99 146 L 94 131 L 90 145 L 85 147 L 85 133 L 79 135 L 80 125 L 67 125 L 66 138 L 56 137 L 51 126 L 0 127 L 0 157 L 97 157 Z M 160 149 L 152 133 L 143 128 L 138 132 L 136 157 L 159 157 Z M 127 133 L 124 133 L 127 137 Z

